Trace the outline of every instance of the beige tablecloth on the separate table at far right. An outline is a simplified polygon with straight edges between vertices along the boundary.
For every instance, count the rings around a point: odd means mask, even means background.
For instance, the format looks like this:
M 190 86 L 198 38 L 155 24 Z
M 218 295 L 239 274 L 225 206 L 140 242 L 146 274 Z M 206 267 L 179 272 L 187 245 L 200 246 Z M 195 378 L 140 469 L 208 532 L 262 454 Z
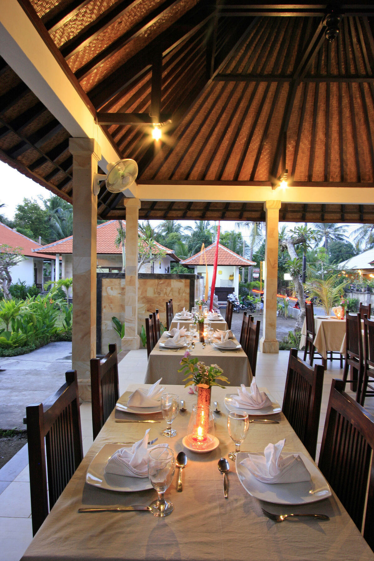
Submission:
M 345 321 L 336 318 L 316 318 L 315 317 L 316 337 L 313 341 L 314 346 L 323 358 L 327 358 L 327 352 L 341 352 L 341 345 L 345 336 Z M 307 324 L 304 320 L 301 330 L 300 348 L 306 342 Z

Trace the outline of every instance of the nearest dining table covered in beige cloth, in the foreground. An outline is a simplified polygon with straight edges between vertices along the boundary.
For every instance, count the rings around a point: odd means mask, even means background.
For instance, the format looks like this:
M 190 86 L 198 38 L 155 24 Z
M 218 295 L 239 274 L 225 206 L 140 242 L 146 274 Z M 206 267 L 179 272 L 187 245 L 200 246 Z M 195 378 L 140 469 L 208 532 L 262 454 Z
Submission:
M 127 389 L 133 391 L 138 387 L 138 384 L 131 384 Z M 165 421 L 160 413 L 142 415 L 143 420 L 161 420 L 160 423 L 147 425 L 116 422 L 124 419 L 126 413 L 113 411 L 31 541 L 22 561 L 374 559 L 373 551 L 334 491 L 328 498 L 310 504 L 264 502 L 244 489 L 238 479 L 236 465 L 230 461 L 228 498 L 225 498 L 218 461 L 234 449 L 228 434 L 228 411 L 224 399 L 228 393 L 235 393 L 235 389 L 212 388 L 212 400 L 219 403 L 221 412 L 214 414 L 215 436 L 219 444 L 208 453 L 192 452 L 182 443 L 196 396 L 189 394 L 188 389 L 181 385 L 167 385 L 166 390 L 184 399 L 186 411 L 179 411 L 173 422 L 177 435 L 174 438 L 161 435 Z M 310 461 L 310 466 L 315 467 L 283 413 L 276 413 L 273 419 L 279 424 L 250 424 L 241 450 L 263 452 L 268 443 L 285 438 L 285 452 L 302 453 Z M 187 456 L 182 492 L 177 492 L 177 476 L 174 475 L 165 493 L 165 498 L 174 505 L 170 516 L 160 518 L 140 511 L 79 513 L 81 507 L 149 505 L 156 499 L 154 489 L 121 492 L 86 482 L 90 464 L 104 445 L 117 443 L 120 447 L 119 443 L 137 441 L 144 436 L 147 428 L 150 428 L 150 439 L 158 438 L 158 443 L 168 442 L 175 456 L 181 450 Z M 287 485 L 293 484 L 283 485 L 286 493 Z M 262 508 L 276 514 L 325 514 L 330 519 L 297 518 L 277 523 L 267 518 Z

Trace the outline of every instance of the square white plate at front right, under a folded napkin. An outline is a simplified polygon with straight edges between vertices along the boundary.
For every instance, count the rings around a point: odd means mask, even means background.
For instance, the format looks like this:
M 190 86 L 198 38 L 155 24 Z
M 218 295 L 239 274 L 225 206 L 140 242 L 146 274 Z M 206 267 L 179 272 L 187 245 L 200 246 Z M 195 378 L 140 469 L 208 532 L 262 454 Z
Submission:
M 287 452 L 287 454 L 295 453 Z M 264 456 L 264 452 L 251 452 L 251 454 L 261 454 Z M 318 500 L 331 496 L 329 484 L 315 463 L 302 453 L 299 453 L 299 456 L 311 474 L 310 481 L 302 481 L 300 483 L 262 483 L 246 467 L 240 465 L 244 458 L 248 458 L 248 452 L 239 452 L 237 454 L 235 465 L 239 481 L 247 493 L 258 500 L 265 500 L 268 503 L 307 504 L 316 503 Z M 317 492 L 310 493 L 309 491 Z

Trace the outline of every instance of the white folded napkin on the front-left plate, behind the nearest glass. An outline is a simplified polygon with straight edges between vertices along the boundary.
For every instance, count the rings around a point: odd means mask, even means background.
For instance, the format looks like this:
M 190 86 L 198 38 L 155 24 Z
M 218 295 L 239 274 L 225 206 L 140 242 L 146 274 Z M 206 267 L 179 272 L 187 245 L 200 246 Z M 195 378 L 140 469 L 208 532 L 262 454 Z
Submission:
M 104 472 L 128 477 L 147 477 L 149 451 L 155 448 L 147 446 L 150 430 L 146 430 L 144 438 L 138 440 L 131 448 L 120 448 L 114 452 L 104 467 Z M 159 446 L 167 448 L 168 444 L 159 444 Z

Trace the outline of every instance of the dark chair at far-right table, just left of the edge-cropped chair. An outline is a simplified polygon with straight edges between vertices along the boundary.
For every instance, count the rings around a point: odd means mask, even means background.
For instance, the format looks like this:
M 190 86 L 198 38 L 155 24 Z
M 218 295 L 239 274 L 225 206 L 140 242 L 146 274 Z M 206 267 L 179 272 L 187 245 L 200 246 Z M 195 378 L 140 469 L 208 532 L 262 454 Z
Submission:
M 350 379 L 348 380 L 348 371 Z M 343 371 L 344 388 L 347 381 L 353 392 L 357 392 L 356 399 L 360 402 L 358 380 L 363 379 L 364 357 L 362 344 L 361 316 L 359 314 L 345 314 L 345 364 Z

